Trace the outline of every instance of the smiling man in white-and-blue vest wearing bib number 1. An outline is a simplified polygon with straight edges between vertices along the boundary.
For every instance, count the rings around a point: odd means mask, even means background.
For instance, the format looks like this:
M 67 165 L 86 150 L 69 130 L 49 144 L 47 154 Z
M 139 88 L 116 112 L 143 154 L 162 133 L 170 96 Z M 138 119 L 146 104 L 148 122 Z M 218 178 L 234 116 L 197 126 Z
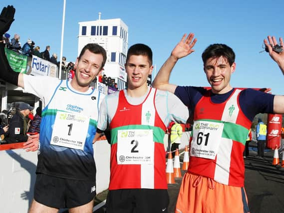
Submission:
M 0 38 L 14 20 L 15 9 L 0 14 Z M 87 44 L 76 60 L 69 82 L 47 76 L 13 72 L 0 40 L 0 78 L 42 100 L 34 200 L 29 213 L 92 213 L 96 167 L 92 141 L 96 132 L 100 93 L 89 85 L 103 70 L 105 50 Z

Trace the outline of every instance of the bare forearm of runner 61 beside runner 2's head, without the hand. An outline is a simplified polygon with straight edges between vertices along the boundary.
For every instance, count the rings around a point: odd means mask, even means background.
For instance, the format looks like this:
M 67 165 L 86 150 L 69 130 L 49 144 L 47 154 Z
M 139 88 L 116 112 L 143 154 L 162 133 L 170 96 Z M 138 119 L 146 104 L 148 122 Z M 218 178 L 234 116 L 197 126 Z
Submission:
M 176 85 L 169 84 L 169 79 L 177 61 L 178 59 L 172 55 L 165 61 L 152 83 L 153 87 L 161 90 L 168 90 L 172 93 L 175 92 Z

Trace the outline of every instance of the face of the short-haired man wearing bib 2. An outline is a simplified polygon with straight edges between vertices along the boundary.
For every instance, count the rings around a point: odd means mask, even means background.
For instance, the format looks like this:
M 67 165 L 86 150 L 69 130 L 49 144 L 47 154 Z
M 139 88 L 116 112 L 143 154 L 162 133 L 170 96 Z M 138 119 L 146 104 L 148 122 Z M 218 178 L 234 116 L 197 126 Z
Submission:
M 131 55 L 125 64 L 128 88 L 145 89 L 147 91 L 148 75 L 152 73 L 153 66 L 150 65 L 149 58 L 146 55 Z

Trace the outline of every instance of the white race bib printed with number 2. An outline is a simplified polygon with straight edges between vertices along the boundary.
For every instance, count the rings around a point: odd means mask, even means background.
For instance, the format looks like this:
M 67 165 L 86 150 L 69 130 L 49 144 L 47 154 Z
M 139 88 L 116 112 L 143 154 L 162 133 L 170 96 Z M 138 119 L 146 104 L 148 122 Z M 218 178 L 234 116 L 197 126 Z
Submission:
M 118 130 L 117 164 L 153 164 L 153 130 Z

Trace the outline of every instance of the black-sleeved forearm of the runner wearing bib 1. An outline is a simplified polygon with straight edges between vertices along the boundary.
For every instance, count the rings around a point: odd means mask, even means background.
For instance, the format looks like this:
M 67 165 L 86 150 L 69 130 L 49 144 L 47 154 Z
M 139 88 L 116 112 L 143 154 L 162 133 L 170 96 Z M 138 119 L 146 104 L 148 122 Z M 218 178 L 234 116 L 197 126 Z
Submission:
M 14 72 L 6 58 L 4 43 L 0 42 L 0 78 L 14 85 L 18 85 L 18 72 Z

